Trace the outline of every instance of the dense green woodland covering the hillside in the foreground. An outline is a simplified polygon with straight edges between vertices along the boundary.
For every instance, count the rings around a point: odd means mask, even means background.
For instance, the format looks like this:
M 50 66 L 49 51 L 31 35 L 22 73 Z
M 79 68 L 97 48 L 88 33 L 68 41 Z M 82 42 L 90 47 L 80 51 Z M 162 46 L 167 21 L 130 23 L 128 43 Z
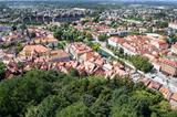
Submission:
M 0 117 L 177 117 L 158 92 L 128 78 L 32 70 L 0 83 Z

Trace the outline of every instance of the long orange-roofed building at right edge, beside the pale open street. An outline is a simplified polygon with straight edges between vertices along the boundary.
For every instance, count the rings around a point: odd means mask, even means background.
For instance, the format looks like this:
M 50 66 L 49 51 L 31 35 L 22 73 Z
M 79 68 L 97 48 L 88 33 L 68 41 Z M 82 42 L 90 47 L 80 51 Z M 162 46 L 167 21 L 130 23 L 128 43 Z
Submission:
M 170 61 L 168 59 L 158 59 L 160 71 L 163 73 L 169 74 L 171 76 L 177 75 L 177 62 Z

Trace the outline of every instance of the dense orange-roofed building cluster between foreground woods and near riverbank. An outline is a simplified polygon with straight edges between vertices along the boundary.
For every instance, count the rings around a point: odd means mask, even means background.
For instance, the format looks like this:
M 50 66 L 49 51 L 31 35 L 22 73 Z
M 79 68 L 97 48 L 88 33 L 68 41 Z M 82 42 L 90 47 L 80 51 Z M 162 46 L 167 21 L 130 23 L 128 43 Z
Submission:
M 23 63 L 23 68 L 19 68 L 18 62 Z M 40 44 L 25 45 L 19 56 L 9 60 L 7 65 L 9 76 L 31 68 L 58 70 L 64 73 L 76 68 L 80 75 L 101 75 L 111 78 L 128 75 L 128 71 L 125 71 L 122 64 L 107 61 L 81 42 L 67 44 L 65 50 L 50 50 Z

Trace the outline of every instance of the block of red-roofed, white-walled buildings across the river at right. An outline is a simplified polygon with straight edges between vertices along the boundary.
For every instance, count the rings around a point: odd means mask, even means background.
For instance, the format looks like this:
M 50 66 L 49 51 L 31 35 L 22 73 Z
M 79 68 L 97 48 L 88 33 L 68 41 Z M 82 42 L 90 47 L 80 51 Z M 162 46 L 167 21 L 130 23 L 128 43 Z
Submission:
M 128 55 L 144 55 L 149 59 L 155 68 L 171 76 L 177 75 L 177 43 L 169 44 L 160 39 L 149 35 L 129 35 L 127 38 L 112 36 L 108 44 L 123 49 Z

